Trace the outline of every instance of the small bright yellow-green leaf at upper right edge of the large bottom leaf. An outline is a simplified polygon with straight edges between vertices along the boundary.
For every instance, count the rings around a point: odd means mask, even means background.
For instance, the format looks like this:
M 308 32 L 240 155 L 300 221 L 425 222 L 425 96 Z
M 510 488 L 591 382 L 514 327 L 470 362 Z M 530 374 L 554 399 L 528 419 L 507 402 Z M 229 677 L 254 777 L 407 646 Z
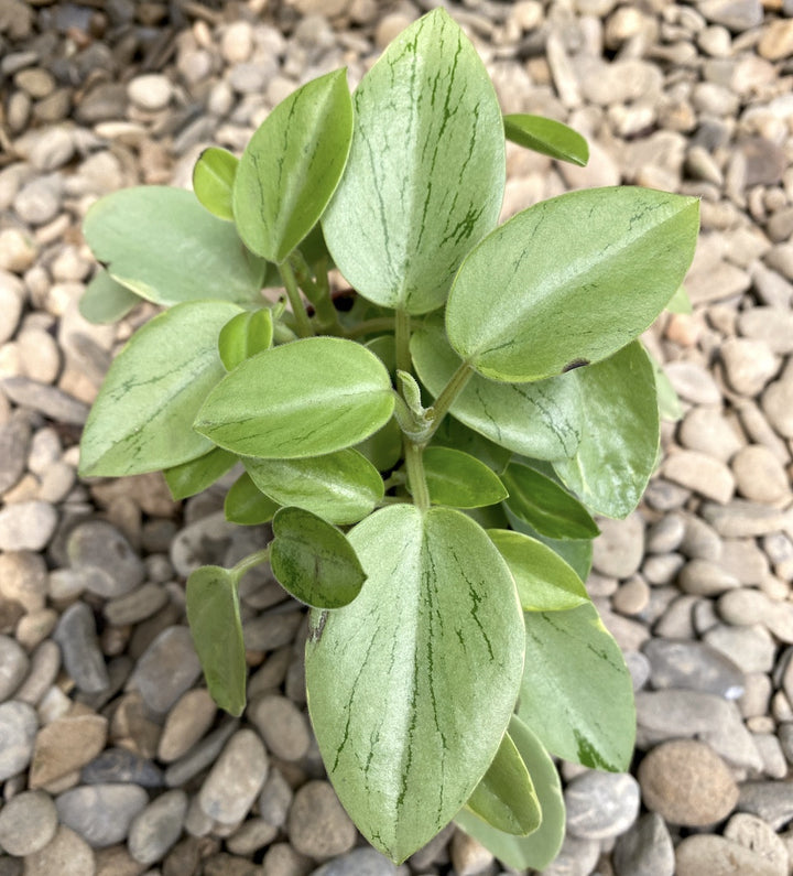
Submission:
M 507 529 L 489 529 L 488 536 L 507 561 L 524 612 L 563 612 L 589 602 L 575 570 L 546 544 Z

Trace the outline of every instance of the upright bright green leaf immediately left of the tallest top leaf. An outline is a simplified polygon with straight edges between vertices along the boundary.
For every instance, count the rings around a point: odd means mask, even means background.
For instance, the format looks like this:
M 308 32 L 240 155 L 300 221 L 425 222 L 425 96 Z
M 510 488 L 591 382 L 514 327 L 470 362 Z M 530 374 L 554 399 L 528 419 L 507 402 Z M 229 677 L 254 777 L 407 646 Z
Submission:
M 253 252 L 280 264 L 316 225 L 341 177 L 352 137 L 347 71 L 293 91 L 240 159 L 233 215 Z

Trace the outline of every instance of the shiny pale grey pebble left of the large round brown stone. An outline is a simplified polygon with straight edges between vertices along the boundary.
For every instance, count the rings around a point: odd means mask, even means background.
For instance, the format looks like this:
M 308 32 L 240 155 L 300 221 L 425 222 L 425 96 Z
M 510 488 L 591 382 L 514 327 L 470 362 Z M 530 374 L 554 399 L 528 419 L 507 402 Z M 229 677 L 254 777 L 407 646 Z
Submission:
M 624 833 L 639 814 L 639 785 L 628 774 L 585 772 L 565 789 L 567 831 L 579 840 Z

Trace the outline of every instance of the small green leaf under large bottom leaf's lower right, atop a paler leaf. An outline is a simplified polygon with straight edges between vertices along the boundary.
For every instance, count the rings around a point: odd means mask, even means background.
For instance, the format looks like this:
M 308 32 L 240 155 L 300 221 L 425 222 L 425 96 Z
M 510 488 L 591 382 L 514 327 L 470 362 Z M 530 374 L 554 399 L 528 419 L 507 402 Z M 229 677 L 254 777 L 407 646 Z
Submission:
M 466 808 L 492 828 L 515 836 L 526 836 L 540 826 L 540 802 L 509 731 Z

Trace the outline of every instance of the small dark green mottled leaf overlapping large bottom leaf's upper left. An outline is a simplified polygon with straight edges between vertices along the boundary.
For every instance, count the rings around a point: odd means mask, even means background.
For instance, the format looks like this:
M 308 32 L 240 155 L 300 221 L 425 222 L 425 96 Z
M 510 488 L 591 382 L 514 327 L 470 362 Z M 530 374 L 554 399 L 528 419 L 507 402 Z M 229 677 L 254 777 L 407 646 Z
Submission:
M 270 565 L 295 599 L 317 608 L 341 608 L 358 596 L 366 574 L 336 527 L 302 508 L 282 508 L 272 526 Z

